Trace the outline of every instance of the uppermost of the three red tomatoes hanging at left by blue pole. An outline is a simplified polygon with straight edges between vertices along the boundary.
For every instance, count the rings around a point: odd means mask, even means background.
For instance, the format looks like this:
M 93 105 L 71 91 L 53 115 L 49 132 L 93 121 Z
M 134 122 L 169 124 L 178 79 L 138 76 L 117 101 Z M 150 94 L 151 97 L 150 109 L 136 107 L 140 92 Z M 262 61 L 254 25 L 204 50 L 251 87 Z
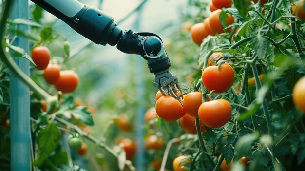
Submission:
M 35 47 L 32 51 L 32 59 L 38 70 L 45 69 L 50 61 L 50 51 L 45 46 Z

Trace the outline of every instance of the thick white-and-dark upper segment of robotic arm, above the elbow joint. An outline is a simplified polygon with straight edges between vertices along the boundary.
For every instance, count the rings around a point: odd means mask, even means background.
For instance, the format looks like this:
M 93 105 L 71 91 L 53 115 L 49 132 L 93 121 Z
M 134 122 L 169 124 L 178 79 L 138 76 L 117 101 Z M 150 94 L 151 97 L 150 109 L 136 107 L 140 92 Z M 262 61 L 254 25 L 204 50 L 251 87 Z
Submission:
M 77 0 L 31 0 L 96 44 L 114 46 L 122 37 L 122 29 L 114 18 L 104 12 L 81 4 Z

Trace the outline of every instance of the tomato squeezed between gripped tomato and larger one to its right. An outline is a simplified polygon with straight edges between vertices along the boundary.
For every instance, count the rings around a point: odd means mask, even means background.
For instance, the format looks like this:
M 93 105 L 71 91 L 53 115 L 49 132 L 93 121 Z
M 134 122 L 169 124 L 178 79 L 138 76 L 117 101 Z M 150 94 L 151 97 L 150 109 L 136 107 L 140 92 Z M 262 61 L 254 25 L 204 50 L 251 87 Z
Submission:
M 202 104 L 202 93 L 201 92 L 191 92 L 184 97 L 183 107 L 186 113 L 193 117 L 198 117 L 198 109 Z

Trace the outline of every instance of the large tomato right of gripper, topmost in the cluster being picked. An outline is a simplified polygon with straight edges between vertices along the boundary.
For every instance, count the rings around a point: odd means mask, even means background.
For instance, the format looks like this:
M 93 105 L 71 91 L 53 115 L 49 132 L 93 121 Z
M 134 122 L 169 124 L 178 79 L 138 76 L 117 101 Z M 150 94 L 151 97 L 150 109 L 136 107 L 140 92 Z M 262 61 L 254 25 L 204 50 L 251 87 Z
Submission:
M 226 63 L 219 70 L 218 66 L 209 66 L 202 72 L 202 82 L 209 91 L 224 93 L 234 83 L 234 70 Z

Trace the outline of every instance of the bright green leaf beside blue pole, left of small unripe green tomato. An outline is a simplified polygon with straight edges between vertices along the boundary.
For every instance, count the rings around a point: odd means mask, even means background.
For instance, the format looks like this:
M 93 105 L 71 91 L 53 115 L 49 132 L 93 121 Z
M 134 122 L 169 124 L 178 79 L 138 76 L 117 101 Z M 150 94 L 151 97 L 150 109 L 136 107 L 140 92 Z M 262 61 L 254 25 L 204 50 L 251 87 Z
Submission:
M 56 127 L 56 123 L 50 123 L 45 129 L 38 132 L 38 156 L 34 160 L 34 166 L 40 166 L 43 164 L 45 159 L 49 157 L 51 152 L 53 152 L 58 144 L 59 140 L 59 130 Z

